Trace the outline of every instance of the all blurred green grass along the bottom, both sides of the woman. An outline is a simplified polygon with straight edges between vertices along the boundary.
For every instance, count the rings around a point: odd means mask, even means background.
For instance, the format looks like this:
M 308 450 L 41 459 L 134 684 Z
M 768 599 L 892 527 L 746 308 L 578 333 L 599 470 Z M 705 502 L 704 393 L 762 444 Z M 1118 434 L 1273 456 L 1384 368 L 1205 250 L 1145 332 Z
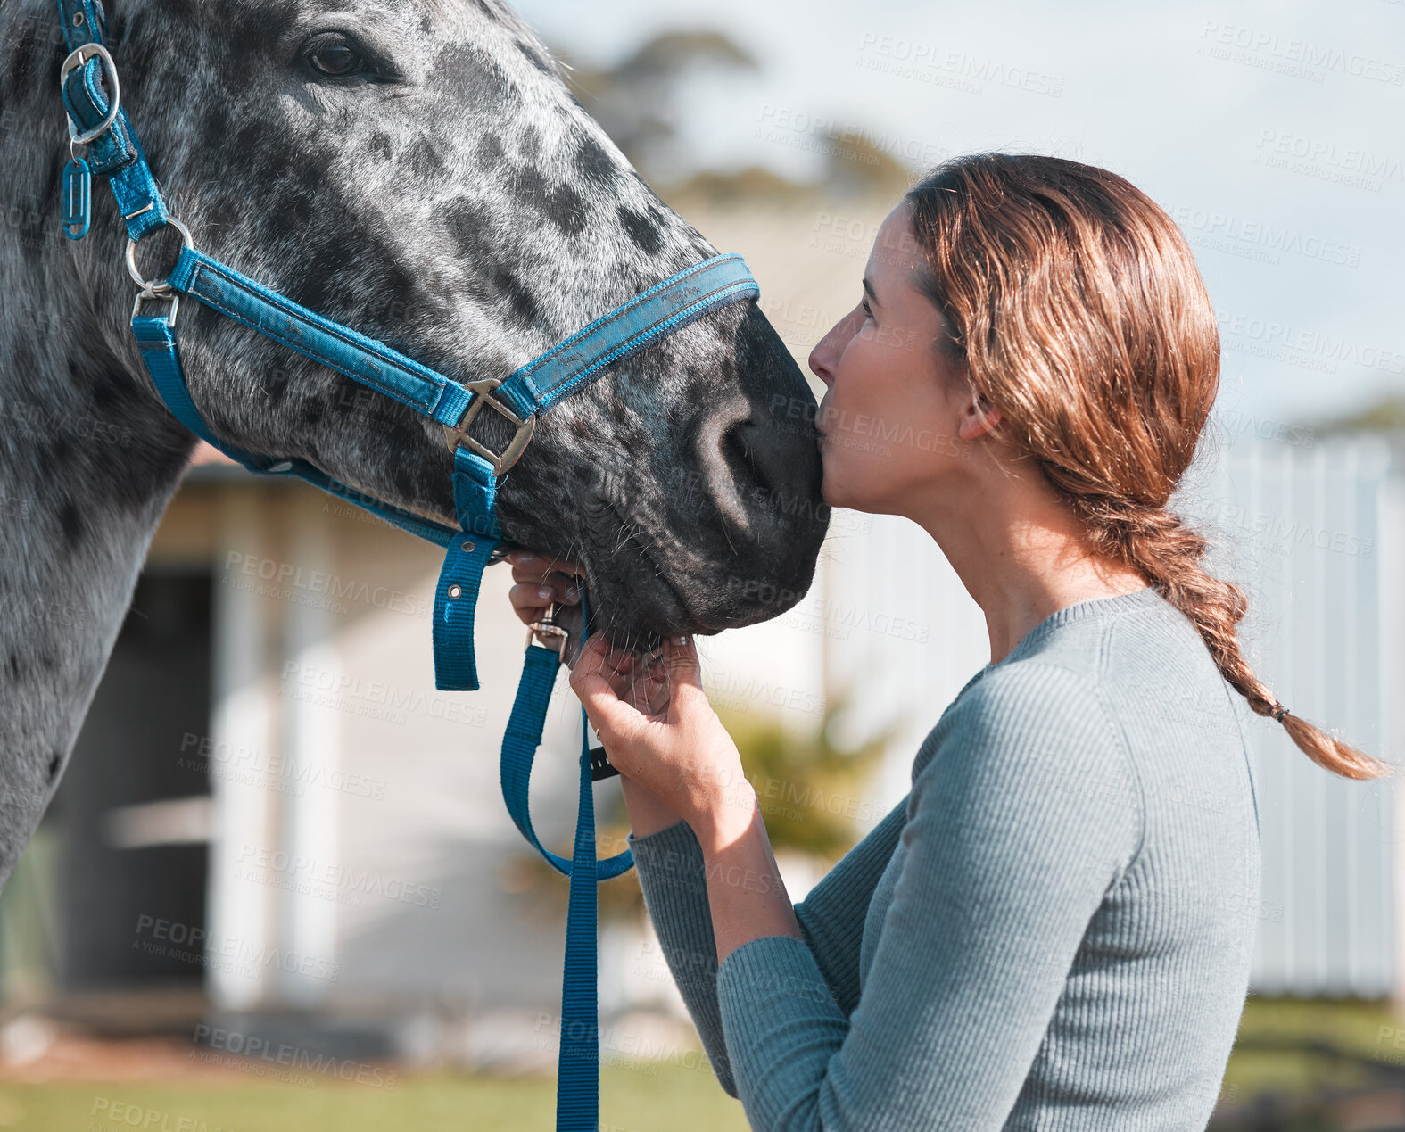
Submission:
M 1366 1070 L 1318 1052 L 1255 1042 L 1324 1042 L 1370 1060 L 1405 1063 L 1405 1021 L 1380 1003 L 1250 997 L 1229 1058 L 1222 1100 L 1312 1093 L 1366 1081 Z M 24 1132 L 549 1132 L 552 1077 L 400 1074 L 392 1087 L 319 1080 L 160 1086 L 148 1081 L 0 1084 L 0 1129 Z M 600 1132 L 747 1132 L 742 1105 L 710 1072 L 643 1063 L 600 1070 Z

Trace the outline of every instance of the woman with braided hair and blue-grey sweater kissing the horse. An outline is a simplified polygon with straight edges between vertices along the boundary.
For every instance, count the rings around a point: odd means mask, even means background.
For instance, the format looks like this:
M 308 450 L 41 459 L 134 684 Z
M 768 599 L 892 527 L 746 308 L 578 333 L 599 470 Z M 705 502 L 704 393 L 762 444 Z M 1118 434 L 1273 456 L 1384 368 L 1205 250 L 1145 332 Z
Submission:
M 691 642 L 587 642 L 570 683 L 674 979 L 756 1129 L 1204 1128 L 1259 900 L 1231 697 L 1329 771 L 1387 767 L 1255 677 L 1243 593 L 1168 510 L 1220 369 L 1190 250 L 1106 170 L 979 154 L 889 213 L 863 291 L 809 357 L 825 500 L 923 527 L 991 663 L 792 907 Z M 846 442 L 861 416 L 943 442 Z M 573 572 L 518 556 L 520 615 Z

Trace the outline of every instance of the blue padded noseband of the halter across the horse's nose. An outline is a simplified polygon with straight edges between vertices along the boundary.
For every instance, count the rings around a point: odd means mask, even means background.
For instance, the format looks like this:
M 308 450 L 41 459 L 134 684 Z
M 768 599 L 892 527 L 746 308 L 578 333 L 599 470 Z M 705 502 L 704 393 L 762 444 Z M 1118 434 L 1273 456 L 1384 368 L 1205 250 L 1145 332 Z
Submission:
M 760 288 L 736 253 L 694 264 L 596 319 L 509 376 L 495 396 L 525 419 L 545 412 L 608 365 L 672 334 L 710 310 L 754 299 Z

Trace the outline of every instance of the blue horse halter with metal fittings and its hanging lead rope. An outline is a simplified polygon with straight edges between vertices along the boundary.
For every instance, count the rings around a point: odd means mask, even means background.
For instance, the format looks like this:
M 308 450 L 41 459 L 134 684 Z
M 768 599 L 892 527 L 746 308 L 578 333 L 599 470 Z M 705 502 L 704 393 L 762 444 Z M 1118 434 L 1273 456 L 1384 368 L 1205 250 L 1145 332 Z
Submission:
M 249 470 L 298 476 L 445 548 L 444 567 L 434 590 L 434 683 L 445 691 L 475 691 L 479 681 L 473 659 L 473 608 L 483 569 L 490 560 L 499 559 L 503 542 L 495 513 L 497 486 L 531 440 L 537 417 L 601 376 L 621 358 L 725 303 L 757 298 L 760 288 L 742 257 L 715 256 L 655 284 L 507 378 L 457 382 L 381 341 L 299 306 L 197 250 L 190 232 L 167 211 L 140 142 L 122 111 L 117 66 L 103 46 L 104 15 L 100 0 L 56 3 L 70 49 L 59 76 L 69 118 L 72 157 L 63 170 L 63 233 L 73 240 L 87 235 L 91 178 L 93 174 L 104 177 L 112 188 L 126 228 L 128 271 L 142 288 L 132 306 L 132 333 L 162 399 L 191 433 Z M 79 156 L 79 147 L 84 147 L 83 157 Z M 169 277 L 145 279 L 136 268 L 136 244 L 148 233 L 167 225 L 174 226 L 184 237 L 180 258 Z M 176 315 L 184 296 L 195 298 L 260 334 L 443 424 L 454 452 L 458 529 L 368 499 L 306 461 L 251 455 L 216 440 L 190 399 L 176 347 Z M 170 308 L 163 315 L 143 315 L 142 306 L 150 299 L 166 299 Z M 517 428 L 502 452 L 493 452 L 469 435 L 473 420 L 485 406 L 507 417 Z M 584 597 L 580 610 L 583 632 L 589 632 Z M 532 643 L 532 631 L 554 636 L 558 647 Z M 570 860 L 548 851 L 531 824 L 531 767 L 541 744 L 547 704 L 565 638 L 566 632 L 549 617 L 528 631 L 521 681 L 507 733 L 503 736 L 502 787 L 507 810 L 521 834 L 552 868 L 570 878 L 556 1129 L 596 1132 L 600 1110 L 596 886 L 600 881 L 625 872 L 634 861 L 628 850 L 604 861 L 596 858 L 592 782 L 618 771 L 610 765 L 601 749 L 589 747 L 584 709 L 580 803 Z

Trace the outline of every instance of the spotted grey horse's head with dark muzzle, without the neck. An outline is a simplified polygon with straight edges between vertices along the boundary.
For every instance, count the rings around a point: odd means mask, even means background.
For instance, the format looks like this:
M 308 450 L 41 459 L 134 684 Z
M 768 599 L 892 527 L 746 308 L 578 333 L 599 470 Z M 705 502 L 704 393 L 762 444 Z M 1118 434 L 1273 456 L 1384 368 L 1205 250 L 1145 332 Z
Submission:
M 22 7 L 56 22 L 52 3 Z M 458 381 L 503 378 L 717 254 L 497 0 L 108 0 L 107 20 L 124 107 L 195 246 Z M 56 208 L 67 154 L 48 42 L 31 80 Z M 62 244 L 45 254 L 83 289 L 70 331 L 119 360 L 156 414 L 105 192 L 93 233 Z M 163 274 L 176 246 L 171 229 L 143 240 L 140 271 Z M 198 303 L 178 334 L 222 441 L 454 524 L 443 427 Z M 157 416 L 153 434 L 173 427 Z M 500 525 L 586 569 L 615 643 L 774 617 L 808 588 L 825 534 L 812 419 L 774 329 L 732 303 L 545 414 L 499 489 Z M 497 449 L 511 433 L 493 413 L 475 426 Z

